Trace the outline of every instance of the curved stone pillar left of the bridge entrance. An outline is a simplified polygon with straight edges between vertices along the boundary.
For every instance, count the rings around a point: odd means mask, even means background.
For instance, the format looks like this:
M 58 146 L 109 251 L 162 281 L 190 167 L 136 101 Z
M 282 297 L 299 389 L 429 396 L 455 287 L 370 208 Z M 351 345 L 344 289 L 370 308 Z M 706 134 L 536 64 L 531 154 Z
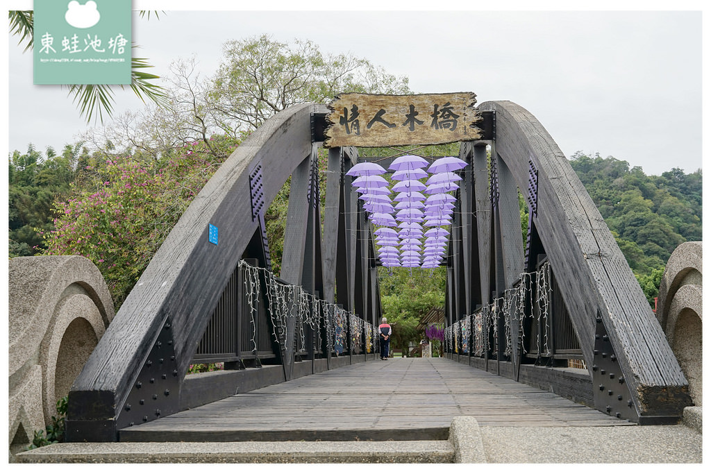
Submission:
M 9 262 L 9 442 L 26 448 L 45 430 L 114 318 L 99 269 L 84 257 Z M 45 432 L 46 433 L 46 432 Z

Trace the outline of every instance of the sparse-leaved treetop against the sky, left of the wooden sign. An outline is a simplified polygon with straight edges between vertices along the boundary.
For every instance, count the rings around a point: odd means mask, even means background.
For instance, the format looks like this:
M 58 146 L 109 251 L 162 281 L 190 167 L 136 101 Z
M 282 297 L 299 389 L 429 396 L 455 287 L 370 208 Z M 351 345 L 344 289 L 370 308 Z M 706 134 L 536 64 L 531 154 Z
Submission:
M 225 126 L 255 129 L 293 104 L 329 102 L 339 92 L 410 92 L 406 77 L 351 55 L 324 55 L 309 40 L 288 45 L 262 35 L 228 41 L 223 53 L 210 100 Z

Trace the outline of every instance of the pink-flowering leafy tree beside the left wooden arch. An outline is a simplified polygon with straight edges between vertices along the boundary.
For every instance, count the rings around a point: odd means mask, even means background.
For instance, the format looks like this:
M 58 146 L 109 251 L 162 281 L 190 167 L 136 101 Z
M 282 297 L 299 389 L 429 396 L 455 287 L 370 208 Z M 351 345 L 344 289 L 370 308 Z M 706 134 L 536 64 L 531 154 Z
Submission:
M 118 307 L 193 198 L 239 144 L 193 142 L 154 159 L 95 153 L 82 163 L 67 200 L 55 204 L 50 255 L 82 255 L 102 272 Z

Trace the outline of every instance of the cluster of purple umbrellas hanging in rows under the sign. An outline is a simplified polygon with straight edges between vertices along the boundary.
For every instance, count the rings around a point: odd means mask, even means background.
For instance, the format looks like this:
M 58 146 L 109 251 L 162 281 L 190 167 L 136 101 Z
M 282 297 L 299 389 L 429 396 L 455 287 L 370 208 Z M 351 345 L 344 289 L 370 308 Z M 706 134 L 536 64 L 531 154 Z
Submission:
M 363 200 L 370 221 L 380 226 L 375 230 L 378 254 L 384 266 L 435 268 L 446 252 L 454 198 L 449 194 L 459 188 L 461 180 L 454 171 L 466 166 L 454 156 L 439 158 L 429 164 L 419 156 L 400 156 L 392 161 L 390 183 L 378 163 L 358 163 L 348 176 L 356 176 L 353 187 Z M 427 178 L 425 183 L 422 179 Z M 390 195 L 395 193 L 395 198 Z

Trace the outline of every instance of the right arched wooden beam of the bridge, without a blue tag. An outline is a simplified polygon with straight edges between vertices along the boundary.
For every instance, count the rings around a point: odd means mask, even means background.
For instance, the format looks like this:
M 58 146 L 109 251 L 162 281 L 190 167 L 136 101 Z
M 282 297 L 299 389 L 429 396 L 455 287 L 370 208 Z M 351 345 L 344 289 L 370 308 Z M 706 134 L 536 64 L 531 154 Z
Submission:
M 596 406 L 609 406 L 608 393 L 626 384 L 630 399 L 621 403 L 629 402 L 636 412 L 634 421 L 678 417 L 691 404 L 687 381 L 624 255 L 567 158 L 523 107 L 504 101 L 484 102 L 479 109 L 496 113 L 494 156 L 506 163 L 518 188 L 528 187 L 529 160 L 538 168 L 538 214 L 533 218 L 593 377 Z M 616 360 L 609 367 L 619 367 L 612 382 L 612 370 L 604 377 L 597 370 L 610 363 L 611 355 Z

